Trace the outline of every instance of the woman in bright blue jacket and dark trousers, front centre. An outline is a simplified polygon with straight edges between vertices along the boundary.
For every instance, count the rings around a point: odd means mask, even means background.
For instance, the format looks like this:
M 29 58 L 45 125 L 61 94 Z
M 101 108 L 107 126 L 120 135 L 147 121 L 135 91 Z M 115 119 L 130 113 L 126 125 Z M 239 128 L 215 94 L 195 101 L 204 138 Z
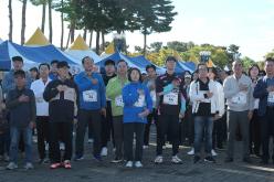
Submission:
M 127 160 L 126 167 L 141 168 L 144 131 L 147 115 L 152 110 L 152 99 L 147 86 L 140 82 L 141 74 L 138 68 L 128 72 L 130 82 L 123 88 L 124 100 L 124 152 Z M 135 163 L 133 157 L 134 133 L 136 136 Z

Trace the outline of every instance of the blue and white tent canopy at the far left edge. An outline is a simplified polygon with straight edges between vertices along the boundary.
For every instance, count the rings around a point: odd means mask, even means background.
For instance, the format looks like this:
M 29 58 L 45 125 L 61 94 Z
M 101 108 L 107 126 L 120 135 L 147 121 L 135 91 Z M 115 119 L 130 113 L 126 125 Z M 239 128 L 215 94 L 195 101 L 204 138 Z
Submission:
M 63 54 L 53 45 L 46 46 L 22 46 L 9 41 L 0 44 L 0 68 L 11 68 L 11 57 L 22 56 L 27 67 L 35 66 L 40 63 L 50 63 L 52 60 L 66 61 L 70 65 L 75 65 L 75 61 Z

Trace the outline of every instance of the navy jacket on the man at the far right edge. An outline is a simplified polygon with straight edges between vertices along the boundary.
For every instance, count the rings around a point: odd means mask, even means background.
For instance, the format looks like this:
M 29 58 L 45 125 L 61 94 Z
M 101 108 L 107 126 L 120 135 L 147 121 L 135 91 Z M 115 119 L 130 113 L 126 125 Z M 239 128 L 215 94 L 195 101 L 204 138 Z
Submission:
M 274 86 L 274 78 L 270 81 L 268 85 Z M 267 88 L 267 77 L 264 76 L 263 78 L 257 81 L 257 84 L 253 92 L 253 97 L 260 99 L 259 110 L 257 110 L 259 116 L 264 116 L 266 113 L 267 96 L 268 96 L 268 92 L 266 90 L 266 88 Z

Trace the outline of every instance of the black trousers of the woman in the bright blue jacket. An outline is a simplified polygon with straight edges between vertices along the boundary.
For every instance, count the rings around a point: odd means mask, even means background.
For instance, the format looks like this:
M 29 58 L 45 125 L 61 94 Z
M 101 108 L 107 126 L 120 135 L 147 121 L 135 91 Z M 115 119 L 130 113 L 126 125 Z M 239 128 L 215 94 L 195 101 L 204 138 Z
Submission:
M 124 153 L 127 161 L 141 161 L 145 125 L 140 122 L 124 124 Z M 136 139 L 135 158 L 133 156 L 134 133 Z

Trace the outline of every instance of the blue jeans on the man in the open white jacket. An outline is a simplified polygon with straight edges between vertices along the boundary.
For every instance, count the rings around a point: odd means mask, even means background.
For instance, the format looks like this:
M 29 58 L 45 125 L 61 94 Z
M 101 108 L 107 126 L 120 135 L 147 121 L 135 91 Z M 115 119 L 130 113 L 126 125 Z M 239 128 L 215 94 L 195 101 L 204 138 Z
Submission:
M 205 138 L 204 151 L 207 154 L 211 154 L 212 149 L 212 130 L 213 120 L 209 116 L 196 116 L 194 117 L 194 151 L 196 154 L 201 152 L 201 142 L 203 139 L 203 133 Z

